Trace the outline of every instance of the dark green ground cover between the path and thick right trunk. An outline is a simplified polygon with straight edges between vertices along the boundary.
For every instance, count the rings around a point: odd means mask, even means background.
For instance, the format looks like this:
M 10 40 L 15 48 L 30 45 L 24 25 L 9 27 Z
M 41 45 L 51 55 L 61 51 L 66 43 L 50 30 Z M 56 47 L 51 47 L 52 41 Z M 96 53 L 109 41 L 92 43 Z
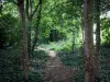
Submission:
M 77 51 L 65 51 L 61 50 L 58 52 L 59 59 L 65 66 L 79 68 L 79 72 L 73 78 L 73 82 L 84 82 L 85 81 L 85 60 L 84 55 L 80 54 L 81 50 L 77 48 Z

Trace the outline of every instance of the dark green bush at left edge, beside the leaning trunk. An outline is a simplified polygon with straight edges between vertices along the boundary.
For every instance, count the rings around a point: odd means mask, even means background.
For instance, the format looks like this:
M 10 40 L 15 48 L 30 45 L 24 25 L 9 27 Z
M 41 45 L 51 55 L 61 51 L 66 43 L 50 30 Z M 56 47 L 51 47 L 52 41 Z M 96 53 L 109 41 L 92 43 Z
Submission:
M 0 42 L 3 46 L 10 46 L 20 42 L 21 28 L 19 22 L 11 14 L 0 16 Z

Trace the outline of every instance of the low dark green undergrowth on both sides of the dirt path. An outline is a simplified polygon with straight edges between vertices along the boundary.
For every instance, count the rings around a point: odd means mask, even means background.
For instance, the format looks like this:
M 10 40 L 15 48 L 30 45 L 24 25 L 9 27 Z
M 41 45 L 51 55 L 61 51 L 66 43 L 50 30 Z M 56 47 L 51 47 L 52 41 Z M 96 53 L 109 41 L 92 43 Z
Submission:
M 57 44 L 57 43 L 56 43 Z M 59 45 L 63 43 L 59 42 Z M 77 48 L 74 51 L 54 48 L 59 59 L 67 67 L 77 67 L 79 72 L 73 78 L 73 82 L 85 82 L 85 54 L 84 49 Z M 53 49 L 55 43 L 51 45 L 41 45 L 41 47 Z M 110 82 L 110 48 L 101 47 L 100 51 L 100 79 L 101 82 Z M 21 48 L 0 49 L 0 82 L 24 82 L 23 70 L 21 68 Z M 44 69 L 48 60 L 47 52 L 35 50 L 31 56 L 30 82 L 44 82 Z

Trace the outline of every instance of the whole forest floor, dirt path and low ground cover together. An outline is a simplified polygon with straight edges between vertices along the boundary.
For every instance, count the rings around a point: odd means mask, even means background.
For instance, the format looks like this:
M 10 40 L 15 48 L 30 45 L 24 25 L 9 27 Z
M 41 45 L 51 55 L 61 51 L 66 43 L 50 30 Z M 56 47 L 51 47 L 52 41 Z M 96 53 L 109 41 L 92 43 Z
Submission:
M 21 69 L 22 48 L 0 49 L 0 82 L 24 82 Z M 110 82 L 110 48 L 101 48 L 101 82 Z M 53 44 L 38 46 L 31 56 L 30 82 L 84 82 L 85 58 L 76 51 L 53 49 Z M 73 79 L 73 81 L 70 81 Z M 65 81 L 63 81 L 65 80 Z

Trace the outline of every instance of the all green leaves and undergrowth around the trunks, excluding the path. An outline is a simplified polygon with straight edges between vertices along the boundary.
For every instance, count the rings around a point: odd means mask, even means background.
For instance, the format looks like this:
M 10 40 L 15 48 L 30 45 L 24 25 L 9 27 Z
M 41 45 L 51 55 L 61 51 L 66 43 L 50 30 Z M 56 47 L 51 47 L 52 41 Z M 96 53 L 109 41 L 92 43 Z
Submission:
M 21 68 L 22 49 L 16 48 L 16 46 L 20 46 L 22 39 L 21 22 L 18 17 L 18 8 L 15 5 L 16 0 L 6 1 L 2 15 L 0 15 L 0 47 L 15 46 L 0 50 L 0 82 L 24 82 L 23 70 Z M 101 13 L 110 10 L 109 1 L 101 0 Z M 36 8 L 37 2 L 38 0 L 33 0 L 33 9 Z M 82 0 L 43 0 L 42 19 L 37 30 L 38 47 L 58 51 L 59 59 L 65 66 L 78 67 L 80 69 L 78 74 L 73 78 L 73 82 L 84 82 L 86 72 L 84 45 L 80 45 L 80 42 L 84 42 L 82 3 Z M 32 39 L 34 37 L 33 34 L 35 34 L 35 25 L 37 24 L 36 16 L 37 13 L 34 15 L 32 22 Z M 96 21 L 94 20 L 94 22 Z M 51 30 L 58 31 L 58 37 L 61 38 L 58 42 L 52 43 L 48 40 Z M 57 32 L 53 33 L 53 35 L 56 34 Z M 110 65 L 106 62 L 110 57 L 110 19 L 108 17 L 101 19 L 101 34 L 102 46 L 105 46 L 100 51 L 101 82 L 110 82 Z M 57 37 L 55 37 L 56 39 Z M 35 48 L 33 55 L 30 56 L 30 82 L 44 82 L 44 68 L 47 60 L 47 54 Z

